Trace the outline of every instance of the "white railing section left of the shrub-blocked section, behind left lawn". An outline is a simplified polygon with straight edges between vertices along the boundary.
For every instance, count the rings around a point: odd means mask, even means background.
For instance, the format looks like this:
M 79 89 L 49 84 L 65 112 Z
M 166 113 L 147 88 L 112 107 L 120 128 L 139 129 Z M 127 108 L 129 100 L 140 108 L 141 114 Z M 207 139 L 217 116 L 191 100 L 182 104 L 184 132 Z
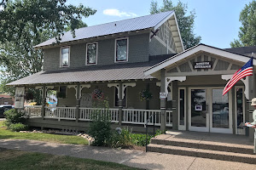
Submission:
M 45 107 L 45 118 L 75 120 L 75 107 Z

